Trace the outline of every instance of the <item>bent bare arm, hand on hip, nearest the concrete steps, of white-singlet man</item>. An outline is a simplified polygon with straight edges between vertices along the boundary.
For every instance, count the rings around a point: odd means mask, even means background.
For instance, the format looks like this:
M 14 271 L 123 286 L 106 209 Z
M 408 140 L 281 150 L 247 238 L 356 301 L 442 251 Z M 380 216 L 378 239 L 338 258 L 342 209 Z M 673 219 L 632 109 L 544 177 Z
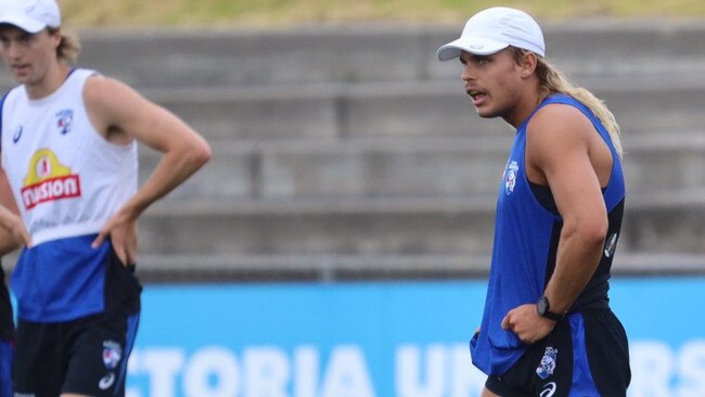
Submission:
M 118 257 L 125 264 L 133 264 L 137 218 L 201 168 L 210 158 L 210 148 L 177 116 L 117 80 L 90 78 L 84 98 L 91 123 L 106 139 L 137 139 L 164 153 L 152 175 L 107 221 L 93 244 L 100 245 L 110 235 Z

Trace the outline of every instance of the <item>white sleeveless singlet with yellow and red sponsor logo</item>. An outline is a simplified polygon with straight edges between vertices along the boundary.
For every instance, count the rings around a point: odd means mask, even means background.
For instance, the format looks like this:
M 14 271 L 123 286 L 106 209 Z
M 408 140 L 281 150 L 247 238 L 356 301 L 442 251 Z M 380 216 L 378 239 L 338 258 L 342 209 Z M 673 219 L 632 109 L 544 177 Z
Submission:
M 35 245 L 98 233 L 137 191 L 137 143 L 106 141 L 84 103 L 75 69 L 50 95 L 31 100 L 20 86 L 2 106 L 2 167 Z

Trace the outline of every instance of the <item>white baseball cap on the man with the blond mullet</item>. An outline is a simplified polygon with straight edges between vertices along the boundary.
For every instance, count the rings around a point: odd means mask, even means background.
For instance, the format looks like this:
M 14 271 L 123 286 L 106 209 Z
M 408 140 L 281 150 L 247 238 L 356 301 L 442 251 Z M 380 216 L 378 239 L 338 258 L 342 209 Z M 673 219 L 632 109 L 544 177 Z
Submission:
M 507 7 L 493 7 L 467 20 L 460 38 L 441 46 L 436 56 L 439 61 L 448 61 L 460 56 L 462 51 L 489 55 L 510 46 L 546 56 L 541 27 L 529 14 Z

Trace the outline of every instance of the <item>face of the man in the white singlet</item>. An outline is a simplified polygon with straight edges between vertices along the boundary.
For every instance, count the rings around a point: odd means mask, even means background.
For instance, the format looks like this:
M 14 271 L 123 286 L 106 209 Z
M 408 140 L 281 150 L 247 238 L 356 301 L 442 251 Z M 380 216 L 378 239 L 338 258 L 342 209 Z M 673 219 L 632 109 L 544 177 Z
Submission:
M 24 85 L 38 84 L 56 62 L 59 34 L 47 29 L 30 34 L 15 26 L 0 26 L 0 51 L 15 80 Z

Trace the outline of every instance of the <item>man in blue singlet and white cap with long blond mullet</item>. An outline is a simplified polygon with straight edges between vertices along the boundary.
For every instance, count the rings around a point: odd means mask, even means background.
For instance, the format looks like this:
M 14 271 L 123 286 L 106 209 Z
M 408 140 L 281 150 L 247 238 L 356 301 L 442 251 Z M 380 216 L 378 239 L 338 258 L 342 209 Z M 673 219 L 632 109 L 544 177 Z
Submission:
M 460 59 L 480 117 L 516 128 L 471 341 L 483 396 L 626 396 L 628 343 L 607 297 L 625 200 L 614 116 L 544 60 L 520 10 L 475 14 L 437 56 Z

